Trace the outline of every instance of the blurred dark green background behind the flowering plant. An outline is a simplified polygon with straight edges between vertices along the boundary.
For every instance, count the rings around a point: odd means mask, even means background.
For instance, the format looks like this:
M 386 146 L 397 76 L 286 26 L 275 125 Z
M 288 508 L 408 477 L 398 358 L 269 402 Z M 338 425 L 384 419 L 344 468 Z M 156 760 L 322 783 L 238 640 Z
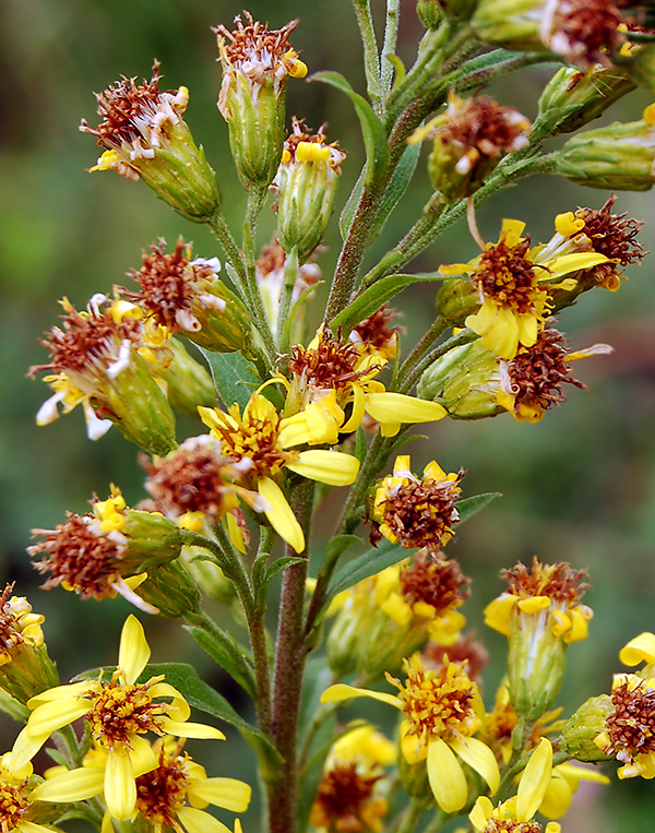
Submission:
M 378 12 L 382 3 L 374 2 Z M 378 9 L 378 7 L 380 7 Z M 404 3 L 400 55 L 409 62 L 420 37 L 413 2 Z M 300 17 L 293 43 L 310 73 L 336 70 L 364 91 L 357 27 L 348 0 L 307 4 L 284 0 L 250 3 L 255 17 L 273 27 Z M 154 58 L 162 61 L 164 88 L 184 84 L 191 100 L 187 120 L 218 174 L 228 222 L 237 230 L 243 197 L 227 150 L 227 131 L 215 106 L 219 87 L 215 38 L 210 27 L 229 24 L 239 3 L 199 0 L 2 0 L 0 4 L 0 579 L 16 581 L 47 616 L 47 640 L 63 677 L 85 667 L 115 662 L 120 626 L 129 608 L 122 600 L 82 603 L 63 591 L 44 593 L 25 547 L 33 526 L 51 527 L 67 509 L 84 512 L 94 492 L 104 497 L 109 483 L 121 486 L 128 501 L 143 495 L 135 449 L 110 431 L 97 443 L 85 437 L 80 410 L 37 429 L 34 415 L 48 395 L 41 382 L 25 378 L 44 361 L 37 337 L 59 314 L 67 295 L 83 306 L 95 291 L 122 283 L 140 263 L 141 249 L 157 237 L 179 234 L 195 243 L 201 257 L 222 254 L 204 228 L 186 223 L 155 200 L 141 183 L 109 174 L 88 176 L 98 150 L 80 133 L 82 117 L 95 124 L 94 91 L 121 73 L 150 78 Z M 551 70 L 534 70 L 497 83 L 490 92 L 528 117 Z M 615 106 L 605 121 L 638 118 L 648 99 L 636 94 Z M 350 104 L 320 83 L 293 81 L 291 114 L 318 128 L 349 152 L 338 205 L 343 205 L 362 158 L 358 123 Z M 377 241 L 371 259 L 393 246 L 417 217 L 430 193 L 425 165 L 416 182 Z M 555 214 L 577 205 L 600 206 L 606 194 L 583 191 L 555 179 L 531 179 L 485 204 L 478 215 L 483 236 L 497 239 L 503 216 L 527 221 L 534 240 L 547 239 Z M 651 193 L 621 194 L 615 211 L 646 221 L 645 249 L 655 249 L 650 225 Z M 338 206 L 337 206 L 338 211 Z M 260 245 L 274 219 L 265 212 Z M 326 239 L 321 265 L 329 275 L 338 251 L 336 223 Z M 475 243 L 465 226 L 452 229 L 414 264 L 432 270 L 443 262 L 467 260 Z M 501 590 L 498 572 L 538 554 L 543 560 L 568 560 L 590 568 L 593 590 L 586 600 L 595 610 L 591 638 L 572 647 L 562 704 L 608 690 L 619 670 L 617 653 L 642 630 L 655 629 L 655 286 L 651 261 L 629 271 L 617 294 L 587 294 L 567 310 L 560 325 L 573 348 L 609 342 L 615 353 L 575 367 L 591 391 L 572 390 L 569 402 L 536 426 L 509 415 L 480 423 L 440 423 L 430 442 L 409 447 L 415 467 L 436 457 L 446 471 L 469 469 L 465 493 L 500 491 L 502 500 L 463 527 L 449 547 L 474 576 L 474 597 L 465 612 L 483 633 L 480 609 Z M 404 348 L 431 322 L 432 290 L 401 296 Z M 319 305 L 317 305 L 318 307 Z M 317 313 L 318 314 L 318 313 Z M 182 426 L 188 432 L 192 426 Z M 326 513 L 325 513 L 326 514 Z M 330 535 L 324 523 L 319 535 Z M 274 615 L 274 610 L 272 615 Z M 218 611 L 218 615 L 222 615 Z M 145 622 L 155 661 L 198 663 L 205 678 L 223 687 L 237 707 L 239 692 L 210 667 L 175 623 Z M 485 633 L 497 662 L 488 693 L 504 656 L 503 640 Z M 16 727 L 2 718 L 10 745 Z M 250 751 L 228 731 L 229 747 L 218 750 L 210 774 L 252 767 Z M 223 761 L 223 767 L 221 762 Z M 581 795 L 563 830 L 652 831 L 655 800 L 647 782 L 617 784 Z M 249 818 L 249 817 L 247 817 Z M 250 830 L 257 823 L 250 822 Z M 248 828 L 247 828 L 248 829 Z

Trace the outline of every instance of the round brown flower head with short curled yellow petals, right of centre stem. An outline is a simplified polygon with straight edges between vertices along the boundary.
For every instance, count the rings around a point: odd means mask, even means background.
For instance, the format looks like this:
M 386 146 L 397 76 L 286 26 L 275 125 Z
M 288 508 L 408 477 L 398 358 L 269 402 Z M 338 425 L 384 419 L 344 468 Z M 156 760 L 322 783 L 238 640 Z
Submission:
M 456 500 L 464 472 L 446 474 L 434 461 L 422 477 L 410 471 L 408 455 L 396 457 L 393 474 L 378 486 L 371 516 L 371 542 L 381 537 L 402 547 L 437 552 L 453 537 L 460 520 Z

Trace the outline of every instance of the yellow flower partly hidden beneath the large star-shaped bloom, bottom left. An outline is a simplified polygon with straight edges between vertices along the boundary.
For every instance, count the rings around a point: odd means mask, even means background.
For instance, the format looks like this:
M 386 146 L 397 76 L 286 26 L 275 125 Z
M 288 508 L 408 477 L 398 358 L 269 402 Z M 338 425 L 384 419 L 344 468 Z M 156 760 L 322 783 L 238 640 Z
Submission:
M 209 805 L 230 812 L 245 812 L 251 788 L 236 778 L 207 778 L 203 766 L 182 751 L 183 740 L 165 737 L 152 746 L 156 765 L 136 774 L 133 816 L 141 816 L 153 833 L 224 833 L 228 829 L 204 811 Z M 102 795 L 109 754 L 95 748 L 84 765 L 48 778 L 37 787 L 40 801 L 83 801 Z M 108 817 L 115 813 L 108 802 Z

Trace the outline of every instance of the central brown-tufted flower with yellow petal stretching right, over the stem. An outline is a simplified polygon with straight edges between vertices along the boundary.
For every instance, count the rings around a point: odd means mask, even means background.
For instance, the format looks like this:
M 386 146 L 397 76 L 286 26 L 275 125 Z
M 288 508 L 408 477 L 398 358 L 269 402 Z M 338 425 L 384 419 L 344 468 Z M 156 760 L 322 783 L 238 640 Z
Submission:
M 376 377 L 389 361 L 389 348 L 371 349 L 356 338 L 340 344 L 325 330 L 308 347 L 294 345 L 287 388 L 288 425 L 309 432 L 310 444 L 337 442 L 357 430 L 366 414 L 380 423 L 383 437 L 394 437 L 403 423 L 431 423 L 445 416 L 437 402 L 388 391 Z M 348 413 L 348 416 L 346 416 Z

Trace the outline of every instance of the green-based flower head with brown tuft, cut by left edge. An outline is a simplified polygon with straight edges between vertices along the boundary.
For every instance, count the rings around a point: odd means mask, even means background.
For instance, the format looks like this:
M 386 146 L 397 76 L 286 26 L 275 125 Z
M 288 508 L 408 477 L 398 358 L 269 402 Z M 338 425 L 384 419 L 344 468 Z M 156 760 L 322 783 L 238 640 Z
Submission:
M 0 596 L 0 688 L 23 705 L 29 698 L 59 685 L 55 663 L 44 644 L 45 617 L 35 614 L 24 596 Z

